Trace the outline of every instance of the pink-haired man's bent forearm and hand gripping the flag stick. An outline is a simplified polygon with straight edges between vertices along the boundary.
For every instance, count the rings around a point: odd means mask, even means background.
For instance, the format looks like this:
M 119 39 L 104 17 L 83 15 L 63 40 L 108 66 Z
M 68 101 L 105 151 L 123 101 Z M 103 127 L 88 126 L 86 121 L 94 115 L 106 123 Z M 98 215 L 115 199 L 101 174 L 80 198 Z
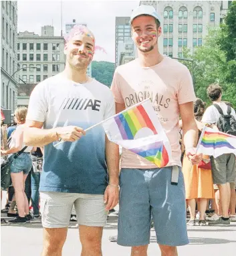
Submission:
M 44 147 L 45 145 L 62 139 L 63 141 L 76 141 L 85 131 L 76 126 L 41 129 L 43 122 L 27 120 L 25 123 L 23 141 L 27 146 Z

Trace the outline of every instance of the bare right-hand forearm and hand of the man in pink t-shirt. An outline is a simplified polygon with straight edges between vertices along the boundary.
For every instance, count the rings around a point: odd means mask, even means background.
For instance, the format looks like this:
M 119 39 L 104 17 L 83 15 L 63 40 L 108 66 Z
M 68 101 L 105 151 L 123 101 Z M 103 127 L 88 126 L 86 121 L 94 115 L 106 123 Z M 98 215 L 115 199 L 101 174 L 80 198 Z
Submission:
M 186 155 L 193 164 L 198 164 L 201 161 L 201 154 L 196 154 L 195 149 L 199 130 L 193 115 L 193 102 L 180 104 L 179 109 L 183 123 L 183 141 Z

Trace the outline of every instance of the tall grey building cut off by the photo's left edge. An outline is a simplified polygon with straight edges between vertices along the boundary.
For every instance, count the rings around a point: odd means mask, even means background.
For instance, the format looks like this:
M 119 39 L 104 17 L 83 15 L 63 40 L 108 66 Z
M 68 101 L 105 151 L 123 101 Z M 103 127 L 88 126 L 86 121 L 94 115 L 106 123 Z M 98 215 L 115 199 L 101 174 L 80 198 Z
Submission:
M 1 109 L 17 107 L 17 1 L 1 1 Z

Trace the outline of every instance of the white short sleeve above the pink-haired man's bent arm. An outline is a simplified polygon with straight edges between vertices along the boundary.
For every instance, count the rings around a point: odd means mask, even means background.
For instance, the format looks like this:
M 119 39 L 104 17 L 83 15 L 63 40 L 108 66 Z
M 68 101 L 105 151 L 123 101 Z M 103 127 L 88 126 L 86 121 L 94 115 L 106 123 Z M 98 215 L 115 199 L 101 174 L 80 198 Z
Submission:
M 47 115 L 47 90 L 44 82 L 37 84 L 31 92 L 27 112 L 27 120 L 43 122 Z

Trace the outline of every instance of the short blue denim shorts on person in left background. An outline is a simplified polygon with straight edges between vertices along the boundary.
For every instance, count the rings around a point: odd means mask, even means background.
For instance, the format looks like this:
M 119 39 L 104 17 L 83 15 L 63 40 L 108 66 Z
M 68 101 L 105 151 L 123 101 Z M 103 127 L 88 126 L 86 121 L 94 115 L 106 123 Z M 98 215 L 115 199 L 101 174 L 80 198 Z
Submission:
M 11 155 L 13 159 L 13 155 Z M 11 173 L 23 172 L 23 174 L 29 174 L 32 167 L 32 159 L 30 153 L 21 153 L 17 159 L 13 159 L 11 163 Z

